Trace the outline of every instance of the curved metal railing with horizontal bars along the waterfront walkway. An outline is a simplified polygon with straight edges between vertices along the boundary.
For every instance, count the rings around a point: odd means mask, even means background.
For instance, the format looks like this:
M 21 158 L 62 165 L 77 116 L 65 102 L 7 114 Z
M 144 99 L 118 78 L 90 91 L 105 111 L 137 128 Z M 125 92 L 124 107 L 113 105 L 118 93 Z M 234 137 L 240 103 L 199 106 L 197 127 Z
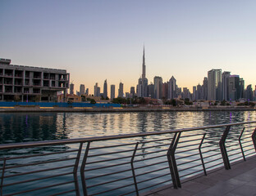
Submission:
M 147 195 L 255 150 L 255 121 L 0 145 L 1 195 Z

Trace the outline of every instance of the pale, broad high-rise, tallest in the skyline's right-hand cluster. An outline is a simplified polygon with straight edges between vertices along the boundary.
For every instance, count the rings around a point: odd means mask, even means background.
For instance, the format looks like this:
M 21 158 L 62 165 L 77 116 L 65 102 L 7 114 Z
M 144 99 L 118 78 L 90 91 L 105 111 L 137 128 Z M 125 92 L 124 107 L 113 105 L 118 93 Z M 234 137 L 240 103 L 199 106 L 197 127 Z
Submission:
M 222 100 L 222 69 L 208 71 L 208 100 Z

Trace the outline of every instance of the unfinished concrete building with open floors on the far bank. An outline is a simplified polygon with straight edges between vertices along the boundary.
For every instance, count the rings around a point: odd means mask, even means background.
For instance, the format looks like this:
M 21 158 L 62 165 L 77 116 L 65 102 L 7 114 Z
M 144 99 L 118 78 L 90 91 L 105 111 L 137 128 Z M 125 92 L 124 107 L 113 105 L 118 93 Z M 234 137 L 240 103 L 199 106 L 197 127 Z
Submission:
M 2 101 L 57 101 L 58 91 L 66 96 L 69 81 L 65 69 L 11 65 L 11 60 L 0 59 Z

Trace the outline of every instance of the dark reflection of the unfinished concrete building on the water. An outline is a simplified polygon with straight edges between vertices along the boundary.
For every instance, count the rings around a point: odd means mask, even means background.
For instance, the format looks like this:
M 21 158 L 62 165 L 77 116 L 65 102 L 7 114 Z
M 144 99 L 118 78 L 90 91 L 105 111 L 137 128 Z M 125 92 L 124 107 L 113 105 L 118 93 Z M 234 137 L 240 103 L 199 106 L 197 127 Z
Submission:
M 57 114 L 0 114 L 0 122 L 0 143 L 66 138 L 65 129 L 57 126 Z M 62 124 L 65 127 L 65 118 Z

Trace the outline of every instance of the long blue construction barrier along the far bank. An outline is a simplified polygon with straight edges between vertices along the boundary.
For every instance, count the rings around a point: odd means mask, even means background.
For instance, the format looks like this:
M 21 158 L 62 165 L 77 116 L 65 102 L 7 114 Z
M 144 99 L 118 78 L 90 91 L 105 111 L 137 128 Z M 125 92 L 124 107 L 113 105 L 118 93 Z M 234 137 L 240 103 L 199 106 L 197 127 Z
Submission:
M 6 102 L 2 101 L 0 102 L 0 107 L 13 107 L 16 105 L 39 105 L 39 107 L 98 107 L 98 108 L 119 108 L 121 107 L 120 104 L 90 104 L 90 103 L 83 103 L 83 102 L 77 102 L 77 103 L 61 103 L 61 102 Z

